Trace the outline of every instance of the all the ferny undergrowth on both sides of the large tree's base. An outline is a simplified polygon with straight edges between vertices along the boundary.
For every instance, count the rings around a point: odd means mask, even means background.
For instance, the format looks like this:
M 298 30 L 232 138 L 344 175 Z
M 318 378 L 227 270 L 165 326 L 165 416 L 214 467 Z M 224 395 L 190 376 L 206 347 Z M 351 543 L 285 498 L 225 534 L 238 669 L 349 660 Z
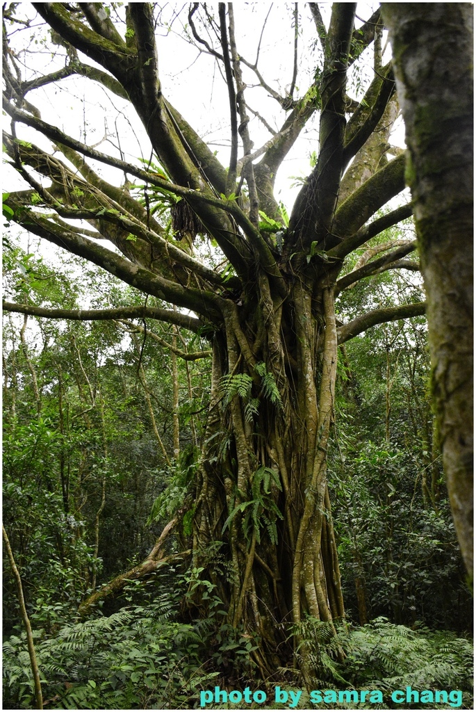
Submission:
M 184 585 L 187 583 L 183 577 Z M 145 604 L 132 587 L 129 604 L 110 616 L 95 614 L 46 635 L 36 630 L 45 708 L 167 709 L 199 708 L 200 691 L 215 689 L 266 691 L 265 703 L 210 703 L 208 708 L 289 708 L 275 703 L 274 690 L 303 689 L 299 669 L 306 668 L 307 691 L 295 708 L 369 708 L 369 702 L 312 703 L 315 690 L 380 690 L 383 702 L 370 708 L 403 708 L 391 692 L 460 690 L 460 708 L 472 709 L 472 645 L 450 632 L 413 629 L 379 618 L 362 627 L 305 619 L 294 630 L 300 645 L 295 666 L 276 671 L 273 681 L 254 679 L 250 665 L 255 642 L 213 621 L 181 622 L 178 599 L 160 577 L 149 587 Z M 188 581 L 189 583 L 189 581 Z M 159 593 L 158 593 L 159 591 Z M 127 601 L 127 597 L 126 597 Z M 223 619 L 222 619 L 223 621 Z M 334 633 L 337 631 L 337 636 Z M 339 661 L 340 660 L 340 661 Z M 33 681 L 23 634 L 4 643 L 4 708 L 34 706 Z M 232 682 L 233 680 L 233 682 Z M 454 708 L 413 703 L 406 708 Z

